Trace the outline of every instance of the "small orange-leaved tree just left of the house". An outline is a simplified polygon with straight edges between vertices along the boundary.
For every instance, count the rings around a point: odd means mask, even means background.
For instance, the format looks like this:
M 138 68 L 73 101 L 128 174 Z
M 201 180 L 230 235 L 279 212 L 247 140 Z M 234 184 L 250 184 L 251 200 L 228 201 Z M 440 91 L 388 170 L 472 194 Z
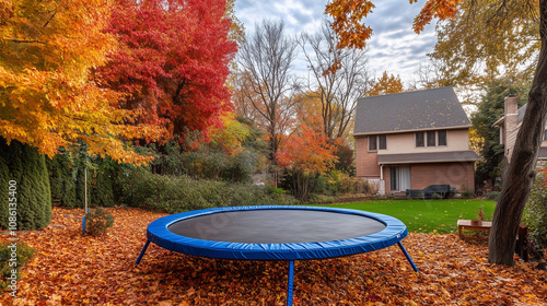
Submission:
M 301 125 L 288 139 L 286 145 L 276 154 L 280 166 L 293 176 L 293 192 L 296 199 L 307 200 L 311 178 L 329 170 L 337 157 L 335 146 L 322 130 Z

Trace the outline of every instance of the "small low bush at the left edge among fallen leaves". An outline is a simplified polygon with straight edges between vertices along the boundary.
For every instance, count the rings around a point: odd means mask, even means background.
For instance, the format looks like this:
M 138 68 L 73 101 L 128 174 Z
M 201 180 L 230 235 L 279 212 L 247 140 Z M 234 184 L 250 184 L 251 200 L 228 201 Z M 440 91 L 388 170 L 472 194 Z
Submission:
M 2 290 L 8 290 L 8 286 L 16 284 L 18 280 L 21 279 L 21 267 L 34 256 L 34 249 L 25 243 L 13 244 L 15 245 L 7 242 L 0 244 L 0 287 Z

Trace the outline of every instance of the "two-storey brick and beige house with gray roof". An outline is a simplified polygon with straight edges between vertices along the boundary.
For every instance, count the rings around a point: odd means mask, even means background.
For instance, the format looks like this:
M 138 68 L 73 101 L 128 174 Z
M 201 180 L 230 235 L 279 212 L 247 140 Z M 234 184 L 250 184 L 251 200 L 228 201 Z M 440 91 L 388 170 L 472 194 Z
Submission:
M 381 195 L 447 184 L 475 191 L 470 122 L 451 86 L 362 97 L 353 136 L 357 176 Z

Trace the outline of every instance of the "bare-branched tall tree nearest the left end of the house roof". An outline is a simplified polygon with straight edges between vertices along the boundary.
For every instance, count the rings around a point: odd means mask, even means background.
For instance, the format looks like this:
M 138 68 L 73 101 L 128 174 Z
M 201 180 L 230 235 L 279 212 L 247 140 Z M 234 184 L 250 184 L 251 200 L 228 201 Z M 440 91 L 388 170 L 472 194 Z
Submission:
M 328 22 L 314 36 L 303 34 L 299 43 L 310 69 L 307 90 L 321 102 L 325 136 L 331 140 L 341 138 L 353 118 L 357 99 L 368 85 L 366 54 L 338 48 Z

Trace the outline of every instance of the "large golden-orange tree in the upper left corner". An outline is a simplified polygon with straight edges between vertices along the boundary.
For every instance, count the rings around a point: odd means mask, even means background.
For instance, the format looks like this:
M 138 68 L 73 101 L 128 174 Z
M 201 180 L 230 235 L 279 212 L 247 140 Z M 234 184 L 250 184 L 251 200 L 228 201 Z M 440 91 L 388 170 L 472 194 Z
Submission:
M 162 131 L 132 125 L 119 95 L 91 81 L 89 70 L 117 47 L 104 32 L 107 0 L 14 0 L 0 3 L 0 137 L 54 156 L 85 143 L 94 155 L 141 164 L 149 157 L 123 139 L 159 139 Z

